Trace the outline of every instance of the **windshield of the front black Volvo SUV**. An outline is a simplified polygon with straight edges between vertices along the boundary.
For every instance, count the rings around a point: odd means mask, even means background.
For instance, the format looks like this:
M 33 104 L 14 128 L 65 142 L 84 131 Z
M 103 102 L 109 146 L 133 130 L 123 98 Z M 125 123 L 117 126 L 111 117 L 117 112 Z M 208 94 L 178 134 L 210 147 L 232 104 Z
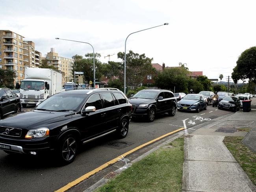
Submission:
M 80 94 L 58 93 L 37 105 L 35 109 L 44 111 L 76 111 L 85 97 L 85 95 Z

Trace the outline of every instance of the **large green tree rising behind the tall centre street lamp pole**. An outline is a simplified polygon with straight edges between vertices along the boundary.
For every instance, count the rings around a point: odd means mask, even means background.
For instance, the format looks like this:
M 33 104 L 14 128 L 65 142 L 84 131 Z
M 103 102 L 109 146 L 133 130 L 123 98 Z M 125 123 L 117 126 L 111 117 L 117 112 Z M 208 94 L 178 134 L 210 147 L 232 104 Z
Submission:
M 124 71 L 124 52 L 119 52 L 117 58 L 122 59 L 120 66 L 121 72 Z M 148 58 L 145 54 L 137 54 L 132 50 L 126 54 L 126 83 L 130 86 L 139 86 L 145 76 L 156 72 L 156 69 L 152 67 L 151 62 L 153 58 Z M 119 76 L 119 79 L 122 75 Z

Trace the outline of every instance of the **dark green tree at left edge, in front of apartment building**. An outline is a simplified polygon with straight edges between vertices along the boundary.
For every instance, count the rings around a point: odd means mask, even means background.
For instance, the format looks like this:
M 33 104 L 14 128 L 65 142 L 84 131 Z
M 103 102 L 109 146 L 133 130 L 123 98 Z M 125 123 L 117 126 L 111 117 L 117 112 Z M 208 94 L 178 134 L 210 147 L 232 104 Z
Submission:
M 17 77 L 16 72 L 9 69 L 0 69 L 0 87 L 14 88 L 14 81 Z

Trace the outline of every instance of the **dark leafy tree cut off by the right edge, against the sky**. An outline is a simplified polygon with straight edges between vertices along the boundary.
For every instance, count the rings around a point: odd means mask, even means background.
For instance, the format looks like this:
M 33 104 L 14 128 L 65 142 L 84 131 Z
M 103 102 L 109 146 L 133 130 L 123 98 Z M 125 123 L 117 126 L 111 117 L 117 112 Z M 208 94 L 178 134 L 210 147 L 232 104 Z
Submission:
M 256 46 L 241 53 L 236 64 L 231 76 L 234 83 L 239 79 L 250 79 L 256 83 Z

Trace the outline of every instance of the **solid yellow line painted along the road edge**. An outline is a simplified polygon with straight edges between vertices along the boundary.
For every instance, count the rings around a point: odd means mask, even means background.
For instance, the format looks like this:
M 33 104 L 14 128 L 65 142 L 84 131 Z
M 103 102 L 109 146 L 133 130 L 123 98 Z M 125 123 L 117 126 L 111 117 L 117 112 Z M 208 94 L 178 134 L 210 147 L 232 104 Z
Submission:
M 60 189 L 56 190 L 55 192 L 65 192 L 66 190 L 68 190 L 68 189 L 71 188 L 72 186 L 77 185 L 77 184 L 80 183 L 81 181 L 87 179 L 87 178 L 90 177 L 91 175 L 96 174 L 97 172 L 99 172 L 99 171 L 101 171 L 102 169 L 106 168 L 106 167 L 109 166 L 110 164 L 113 164 L 113 163 L 117 162 L 118 160 L 120 160 L 121 158 L 125 157 L 126 155 L 129 155 L 130 153 L 133 153 L 134 151 L 137 151 L 137 150 L 139 150 L 139 149 L 141 149 L 141 148 L 147 146 L 148 144 L 151 144 L 151 143 L 153 143 L 153 142 L 156 142 L 156 141 L 160 140 L 161 138 L 164 138 L 164 137 L 167 137 L 167 136 L 169 136 L 169 135 L 172 135 L 172 134 L 174 134 L 174 133 L 176 133 L 176 132 L 178 132 L 178 131 L 181 131 L 181 130 L 183 130 L 183 129 L 184 129 L 184 127 L 180 128 L 180 129 L 176 129 L 175 131 L 172 131 L 172 132 L 170 132 L 170 133 L 167 133 L 167 134 L 165 134 L 165 135 L 162 135 L 161 137 L 155 138 L 154 140 L 151 140 L 151 141 L 149 141 L 149 142 L 147 142 L 147 143 L 145 143 L 145 144 L 142 144 L 142 145 L 140 145 L 140 146 L 138 146 L 138 147 L 136 147 L 136 148 L 134 148 L 134 149 L 132 149 L 132 150 L 130 150 L 130 151 L 128 151 L 128 152 L 122 154 L 122 155 L 120 155 L 119 157 L 116 157 L 115 159 L 112 159 L 112 160 L 106 162 L 105 164 L 99 166 L 99 167 L 96 168 L 95 170 L 92 170 L 92 171 L 88 172 L 87 174 L 82 175 L 82 176 L 79 177 L 78 179 L 76 179 L 76 180 L 74 180 L 74 181 L 68 183 L 67 185 L 65 185 L 65 186 L 61 187 Z

